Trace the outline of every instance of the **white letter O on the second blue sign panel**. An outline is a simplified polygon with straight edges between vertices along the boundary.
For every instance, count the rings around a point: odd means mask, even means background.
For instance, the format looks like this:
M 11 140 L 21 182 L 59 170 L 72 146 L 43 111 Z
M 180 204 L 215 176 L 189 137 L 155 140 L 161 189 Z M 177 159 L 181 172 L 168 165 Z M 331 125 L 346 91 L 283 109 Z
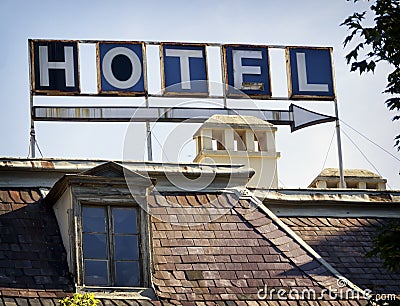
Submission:
M 126 81 L 118 80 L 112 71 L 112 61 L 117 55 L 125 55 L 132 64 L 132 74 Z M 119 89 L 128 89 L 136 85 L 142 75 L 142 66 L 139 57 L 131 49 L 116 47 L 109 50 L 103 57 L 103 75 L 106 81 Z

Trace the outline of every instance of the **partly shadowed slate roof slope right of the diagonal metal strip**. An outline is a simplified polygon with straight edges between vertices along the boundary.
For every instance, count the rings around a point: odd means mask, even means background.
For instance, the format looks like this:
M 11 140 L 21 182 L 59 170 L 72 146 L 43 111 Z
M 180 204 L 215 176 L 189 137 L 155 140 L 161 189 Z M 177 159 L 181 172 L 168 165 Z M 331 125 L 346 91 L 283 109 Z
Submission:
M 340 273 L 363 289 L 400 293 L 400 273 L 390 273 L 377 257 L 367 258 L 384 218 L 283 218 L 293 231 Z

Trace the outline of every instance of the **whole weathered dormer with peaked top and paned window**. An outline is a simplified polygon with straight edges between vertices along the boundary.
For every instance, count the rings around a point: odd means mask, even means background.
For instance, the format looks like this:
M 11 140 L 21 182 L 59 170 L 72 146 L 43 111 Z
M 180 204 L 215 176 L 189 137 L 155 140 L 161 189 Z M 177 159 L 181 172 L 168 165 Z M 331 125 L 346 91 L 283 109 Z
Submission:
M 52 188 L 46 201 L 57 217 L 77 291 L 152 294 L 149 215 L 138 201 L 153 184 L 106 163 L 66 175 Z

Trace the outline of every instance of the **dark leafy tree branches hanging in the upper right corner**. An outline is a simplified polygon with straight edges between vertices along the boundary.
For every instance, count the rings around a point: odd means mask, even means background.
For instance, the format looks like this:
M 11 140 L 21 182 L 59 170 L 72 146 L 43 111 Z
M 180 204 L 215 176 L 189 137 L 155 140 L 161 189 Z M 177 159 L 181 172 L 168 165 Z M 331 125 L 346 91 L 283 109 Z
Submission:
M 399 0 L 372 2 L 369 9 L 374 15 L 372 22 L 365 22 L 367 11 L 364 11 L 355 12 L 341 24 L 350 31 L 343 42 L 344 46 L 356 42 L 355 47 L 346 55 L 346 60 L 351 65 L 351 71 L 358 70 L 360 74 L 374 72 L 378 62 L 390 65 L 392 72 L 387 76 L 384 93 L 392 96 L 385 103 L 389 110 L 398 112 L 393 120 L 400 120 L 400 2 Z M 361 42 L 357 41 L 357 37 Z M 400 134 L 395 137 L 394 146 L 400 151 Z

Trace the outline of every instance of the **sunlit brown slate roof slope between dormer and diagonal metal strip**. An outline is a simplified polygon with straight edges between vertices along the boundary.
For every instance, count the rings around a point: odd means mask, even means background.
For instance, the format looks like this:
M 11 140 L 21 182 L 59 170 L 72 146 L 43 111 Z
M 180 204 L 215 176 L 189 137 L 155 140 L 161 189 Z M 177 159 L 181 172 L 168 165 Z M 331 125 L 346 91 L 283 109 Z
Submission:
M 199 206 L 204 195 L 169 197 L 185 203 L 181 206 L 185 214 L 185 209 Z M 216 196 L 207 197 L 211 202 Z M 231 209 L 202 225 L 181 226 L 153 218 L 157 295 L 178 301 L 257 300 L 264 285 L 316 292 L 336 285 L 326 267 L 253 203 L 229 194 L 219 197 L 231 203 Z

